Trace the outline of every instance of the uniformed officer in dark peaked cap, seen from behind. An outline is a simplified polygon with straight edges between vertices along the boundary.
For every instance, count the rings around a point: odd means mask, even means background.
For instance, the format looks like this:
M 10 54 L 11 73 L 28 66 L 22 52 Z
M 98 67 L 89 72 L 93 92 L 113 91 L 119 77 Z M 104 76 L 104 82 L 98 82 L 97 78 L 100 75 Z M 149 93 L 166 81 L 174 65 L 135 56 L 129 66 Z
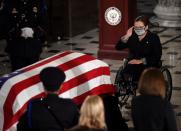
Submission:
M 57 67 L 40 72 L 46 96 L 31 100 L 17 125 L 18 131 L 64 131 L 78 123 L 79 110 L 71 99 L 59 98 L 65 74 Z

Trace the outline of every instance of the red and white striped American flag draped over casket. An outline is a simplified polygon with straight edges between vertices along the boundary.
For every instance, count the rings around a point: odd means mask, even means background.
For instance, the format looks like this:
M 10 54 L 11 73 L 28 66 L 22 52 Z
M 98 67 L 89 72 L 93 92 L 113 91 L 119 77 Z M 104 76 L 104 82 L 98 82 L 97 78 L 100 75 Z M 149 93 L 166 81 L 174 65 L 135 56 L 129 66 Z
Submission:
M 40 71 L 56 66 L 65 71 L 66 80 L 59 96 L 81 104 L 87 95 L 114 93 L 109 66 L 90 55 L 66 51 L 41 60 L 0 78 L 0 130 L 14 131 L 32 98 L 43 97 Z

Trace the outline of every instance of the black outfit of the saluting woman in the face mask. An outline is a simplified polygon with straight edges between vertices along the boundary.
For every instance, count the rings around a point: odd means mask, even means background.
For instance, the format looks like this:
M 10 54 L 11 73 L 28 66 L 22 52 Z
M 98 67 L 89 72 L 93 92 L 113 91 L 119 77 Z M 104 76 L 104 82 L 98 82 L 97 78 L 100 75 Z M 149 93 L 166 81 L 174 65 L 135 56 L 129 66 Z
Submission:
M 144 64 L 128 64 L 124 69 L 124 73 L 133 75 L 136 80 L 139 79 L 145 68 L 160 67 L 162 46 L 159 37 L 150 31 L 147 32 L 146 36 L 141 41 L 139 41 L 136 33 L 133 32 L 126 43 L 120 40 L 115 48 L 117 50 L 128 48 L 128 60 L 144 59 Z

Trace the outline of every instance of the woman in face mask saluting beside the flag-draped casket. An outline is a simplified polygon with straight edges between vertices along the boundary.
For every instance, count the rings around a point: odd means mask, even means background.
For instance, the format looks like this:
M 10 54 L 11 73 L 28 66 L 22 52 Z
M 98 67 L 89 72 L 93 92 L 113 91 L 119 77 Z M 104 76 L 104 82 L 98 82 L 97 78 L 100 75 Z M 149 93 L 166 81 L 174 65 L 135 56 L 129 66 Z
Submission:
M 138 80 L 147 67 L 159 67 L 162 46 L 158 35 L 150 32 L 149 20 L 146 16 L 138 16 L 134 26 L 128 29 L 116 44 L 117 50 L 129 49 L 128 65 L 124 72 L 132 74 Z

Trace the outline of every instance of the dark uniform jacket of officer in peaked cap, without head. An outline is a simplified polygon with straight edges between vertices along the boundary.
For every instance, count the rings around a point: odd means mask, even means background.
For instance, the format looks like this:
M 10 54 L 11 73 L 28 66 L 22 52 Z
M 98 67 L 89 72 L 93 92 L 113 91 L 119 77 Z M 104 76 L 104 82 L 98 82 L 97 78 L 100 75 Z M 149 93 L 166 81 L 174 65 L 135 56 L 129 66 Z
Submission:
M 78 108 L 72 100 L 49 94 L 44 99 L 35 99 L 29 103 L 17 130 L 63 131 L 75 126 L 78 119 Z

